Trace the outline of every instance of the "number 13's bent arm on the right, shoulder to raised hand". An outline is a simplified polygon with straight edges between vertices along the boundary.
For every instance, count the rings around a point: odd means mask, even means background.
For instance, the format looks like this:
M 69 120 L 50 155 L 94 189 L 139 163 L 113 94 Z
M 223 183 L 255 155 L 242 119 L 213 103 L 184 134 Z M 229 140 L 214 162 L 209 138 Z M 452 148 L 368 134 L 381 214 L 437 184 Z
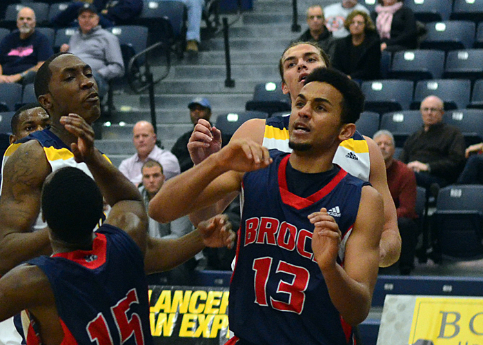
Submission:
M 344 268 L 337 264 L 341 242 L 339 226 L 322 208 L 309 215 L 315 225 L 312 248 L 337 311 L 351 325 L 366 319 L 377 279 L 383 217 L 382 197 L 370 186 L 362 188 L 357 219 L 346 243 Z

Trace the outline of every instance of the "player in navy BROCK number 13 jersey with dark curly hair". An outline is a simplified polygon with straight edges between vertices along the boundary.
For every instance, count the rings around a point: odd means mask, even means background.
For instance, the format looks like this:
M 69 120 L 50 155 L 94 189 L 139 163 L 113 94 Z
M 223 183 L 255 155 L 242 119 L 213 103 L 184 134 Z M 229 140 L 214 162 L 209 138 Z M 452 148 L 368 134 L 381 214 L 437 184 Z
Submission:
M 383 201 L 333 157 L 363 103 L 357 83 L 317 68 L 292 103 L 291 154 L 230 141 L 151 200 L 150 217 L 170 221 L 242 192 L 229 344 L 353 344 L 371 308 Z

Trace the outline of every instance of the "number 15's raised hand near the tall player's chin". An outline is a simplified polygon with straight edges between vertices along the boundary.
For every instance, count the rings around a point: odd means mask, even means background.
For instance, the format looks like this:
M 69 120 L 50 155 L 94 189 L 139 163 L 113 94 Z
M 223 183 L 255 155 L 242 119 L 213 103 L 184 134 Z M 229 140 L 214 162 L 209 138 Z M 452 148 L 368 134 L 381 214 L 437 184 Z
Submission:
M 77 163 L 88 160 L 94 152 L 94 130 L 82 117 L 77 114 L 69 114 L 60 119 L 60 123 L 77 137 L 77 143 L 70 145 Z

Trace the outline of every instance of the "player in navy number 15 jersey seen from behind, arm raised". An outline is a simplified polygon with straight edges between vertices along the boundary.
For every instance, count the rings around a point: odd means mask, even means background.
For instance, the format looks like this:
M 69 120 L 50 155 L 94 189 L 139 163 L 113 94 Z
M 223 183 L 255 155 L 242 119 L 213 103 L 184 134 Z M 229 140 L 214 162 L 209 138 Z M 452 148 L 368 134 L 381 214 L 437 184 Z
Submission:
M 26 309 L 31 319 L 27 344 L 120 345 L 130 337 L 135 344 L 153 344 L 144 273 L 150 241 L 144 201 L 94 148 L 94 132 L 81 117 L 69 115 L 61 123 L 79 137 L 72 154 L 95 181 L 75 167 L 48 175 L 41 208 L 53 255 L 32 259 L 0 279 L 0 320 Z M 103 197 L 112 209 L 93 233 Z

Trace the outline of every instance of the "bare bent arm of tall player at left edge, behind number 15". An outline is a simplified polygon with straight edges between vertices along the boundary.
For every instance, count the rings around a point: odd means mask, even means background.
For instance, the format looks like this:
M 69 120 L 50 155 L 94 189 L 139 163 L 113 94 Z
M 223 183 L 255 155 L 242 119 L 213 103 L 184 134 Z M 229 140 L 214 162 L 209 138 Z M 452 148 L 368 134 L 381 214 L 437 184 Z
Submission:
M 52 253 L 48 230 L 31 232 L 50 170 L 43 148 L 35 140 L 18 146 L 6 161 L 0 197 L 0 275 L 28 259 Z

